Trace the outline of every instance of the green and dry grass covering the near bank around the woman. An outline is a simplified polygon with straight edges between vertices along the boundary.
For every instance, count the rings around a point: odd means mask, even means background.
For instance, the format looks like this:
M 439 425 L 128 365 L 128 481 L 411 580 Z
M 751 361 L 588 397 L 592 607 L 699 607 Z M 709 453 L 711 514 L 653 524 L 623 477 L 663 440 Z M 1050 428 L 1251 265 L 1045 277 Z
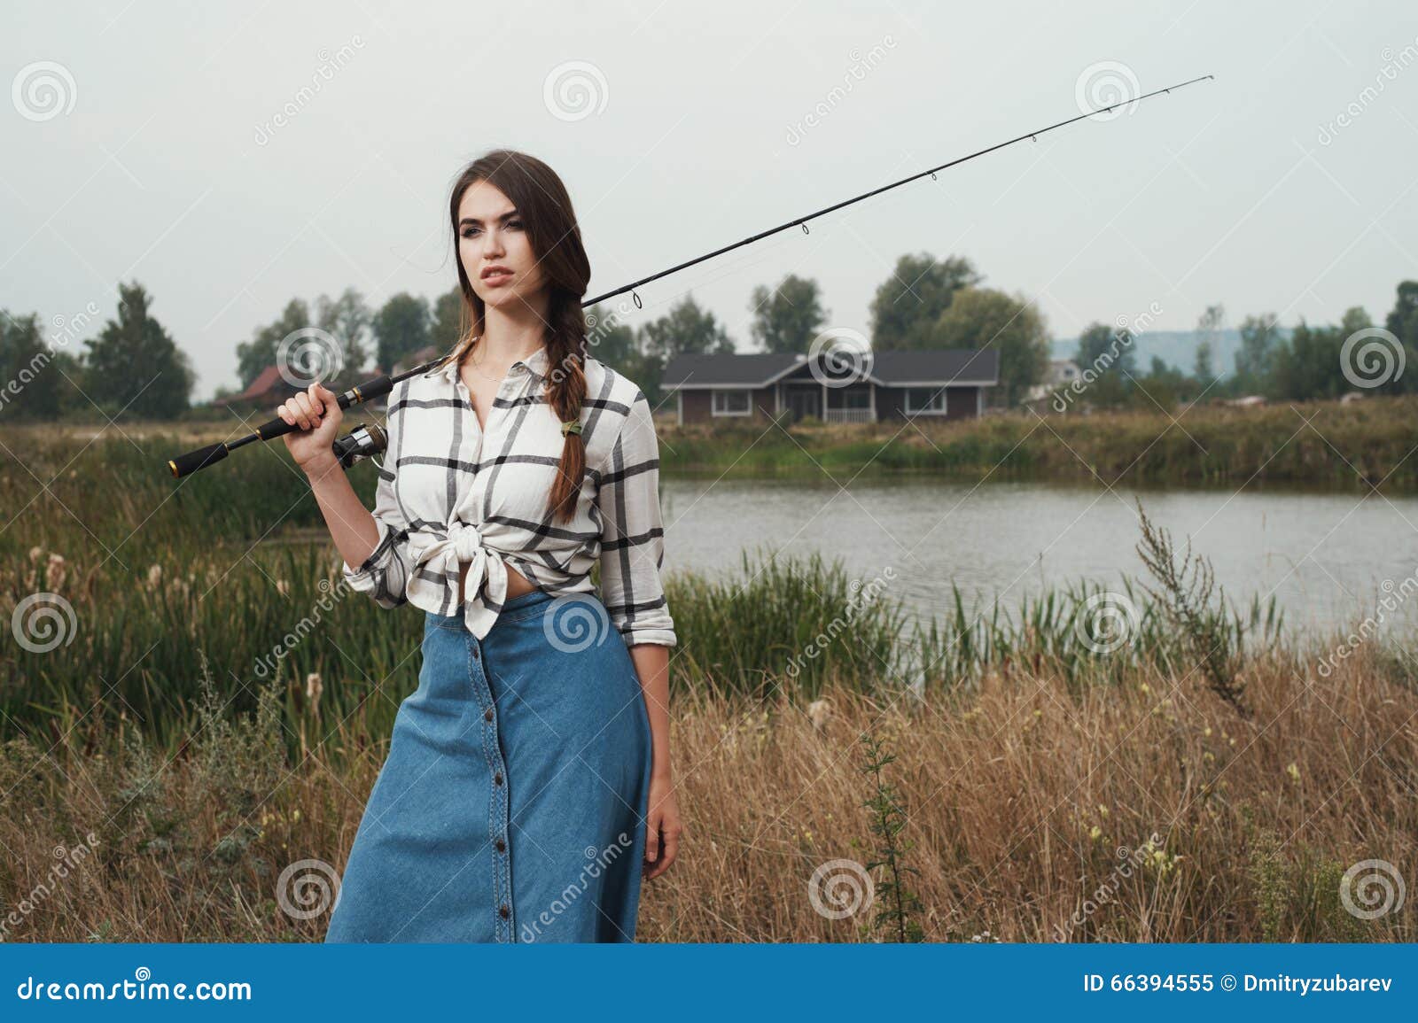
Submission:
M 160 439 L 13 441 L 0 612 L 64 602 L 0 649 L 4 937 L 319 939 L 421 616 L 345 591 L 284 452 L 174 486 Z M 1341 894 L 1418 867 L 1408 635 L 1336 659 L 1161 531 L 1140 551 L 1151 580 L 933 621 L 820 557 L 671 575 L 686 835 L 640 937 L 1418 939 Z M 814 908 L 834 860 L 879 904 Z

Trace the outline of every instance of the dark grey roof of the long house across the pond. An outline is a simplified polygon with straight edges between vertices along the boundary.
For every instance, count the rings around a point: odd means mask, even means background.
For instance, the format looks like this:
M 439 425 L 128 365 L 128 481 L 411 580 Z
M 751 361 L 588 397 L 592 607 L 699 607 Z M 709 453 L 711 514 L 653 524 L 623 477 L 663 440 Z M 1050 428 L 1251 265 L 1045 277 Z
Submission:
M 872 378 L 888 387 L 900 384 L 984 383 L 1000 380 L 998 349 L 934 349 L 929 351 L 876 351 L 864 364 Z M 810 377 L 807 357 L 794 353 L 726 356 L 675 356 L 659 385 L 766 387 L 774 380 Z M 831 374 L 837 375 L 837 374 Z

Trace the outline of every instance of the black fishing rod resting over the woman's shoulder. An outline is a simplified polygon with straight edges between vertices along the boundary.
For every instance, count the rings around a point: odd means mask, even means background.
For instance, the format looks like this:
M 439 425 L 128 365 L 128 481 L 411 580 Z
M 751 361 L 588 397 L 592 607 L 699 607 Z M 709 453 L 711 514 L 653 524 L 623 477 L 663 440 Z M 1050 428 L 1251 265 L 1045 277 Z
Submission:
M 1095 111 L 1086 111 L 1083 113 L 1079 113 L 1075 118 L 1069 118 L 1066 120 L 1059 120 L 1059 122 L 1056 122 L 1054 125 L 1049 125 L 1048 128 L 1037 128 L 1032 132 L 1025 132 L 1024 135 L 1017 135 L 1012 139 L 1008 139 L 1005 142 L 998 142 L 998 143 L 995 143 L 993 146 L 987 146 L 986 149 L 976 150 L 974 153 L 970 153 L 967 156 L 956 157 L 954 160 L 949 160 L 946 163 L 942 163 L 937 167 L 929 167 L 927 170 L 923 170 L 923 171 L 920 171 L 917 174 L 912 174 L 909 177 L 903 177 L 899 181 L 892 181 L 891 184 L 883 184 L 879 188 L 872 188 L 871 191 L 864 191 L 861 196 L 854 196 L 852 198 L 844 198 L 841 203 L 834 203 L 832 205 L 822 207 L 821 210 L 815 210 L 815 211 L 804 214 L 801 217 L 795 217 L 794 220 L 790 220 L 786 224 L 778 224 L 777 227 L 769 228 L 767 231 L 760 231 L 759 234 L 750 235 L 747 238 L 743 238 L 742 241 L 736 241 L 732 245 L 725 245 L 723 248 L 716 248 L 713 252 L 705 252 L 702 256 L 696 256 L 695 259 L 688 259 L 688 261 L 685 261 L 682 264 L 676 264 L 675 266 L 671 266 L 669 269 L 659 271 L 658 273 L 651 273 L 648 278 L 641 278 L 640 281 L 632 281 L 631 283 L 624 285 L 623 288 L 617 288 L 615 290 L 605 292 L 604 295 L 597 295 L 594 299 L 583 300 L 581 302 L 581 307 L 584 309 L 587 306 L 594 306 L 598 302 L 604 302 L 605 299 L 613 299 L 617 295 L 624 295 L 625 292 L 630 292 L 631 293 L 631 299 L 635 302 L 635 307 L 637 309 L 642 309 L 644 305 L 641 302 L 640 295 L 637 293 L 637 289 L 641 288 L 641 286 L 644 286 L 644 285 L 651 283 L 652 281 L 659 281 L 661 278 L 666 278 L 671 273 L 678 273 L 679 271 L 688 269 L 691 266 L 696 266 L 696 265 L 705 262 L 706 259 L 713 259 L 715 256 L 720 256 L 725 252 L 732 252 L 736 248 L 743 248 L 744 245 L 752 245 L 753 242 L 761 241 L 763 238 L 767 238 L 770 235 L 778 234 L 780 231 L 787 231 L 790 227 L 801 227 L 803 228 L 803 234 L 808 234 L 807 222 L 810 220 L 817 220 L 818 217 L 830 214 L 830 213 L 832 213 L 835 210 L 841 210 L 842 207 L 852 205 L 854 203 L 861 203 L 862 200 L 871 198 L 872 196 L 879 196 L 883 191 L 891 191 L 892 188 L 899 188 L 900 186 L 909 184 L 910 181 L 916 181 L 916 180 L 925 177 L 926 174 L 930 174 L 930 177 L 934 179 L 937 171 L 947 170 L 950 167 L 957 167 L 961 163 L 968 163 L 970 160 L 976 160 L 976 159 L 978 159 L 981 156 L 986 156 L 987 153 L 994 153 L 994 152 L 997 152 L 1000 149 L 1005 149 L 1007 146 L 1012 146 L 1012 145 L 1015 145 L 1018 142 L 1024 142 L 1025 139 L 1032 139 L 1034 142 L 1038 142 L 1041 135 L 1046 135 L 1048 132 L 1054 132 L 1054 130 L 1056 130 L 1059 128 L 1065 128 L 1066 125 L 1072 125 L 1072 123 L 1083 120 L 1086 118 L 1092 118 L 1092 116 L 1095 116 L 1098 113 L 1107 113 L 1109 111 L 1115 111 L 1119 106 L 1129 106 L 1132 103 L 1140 103 L 1144 99 L 1151 99 L 1153 96 L 1159 96 L 1159 95 L 1161 95 L 1164 92 L 1166 94 L 1171 94 L 1171 92 L 1176 92 L 1177 89 L 1184 89 L 1188 85 L 1195 85 L 1197 82 L 1202 82 L 1202 81 L 1207 81 L 1207 79 L 1211 79 L 1211 78 L 1215 78 L 1215 75 L 1200 75 L 1200 77 L 1191 78 L 1191 79 L 1188 79 L 1185 82 L 1178 82 L 1177 85 L 1167 85 L 1167 86 L 1164 86 L 1161 89 L 1153 89 L 1151 92 L 1144 92 L 1140 96 L 1134 96 L 1134 98 L 1130 98 L 1130 99 L 1123 99 L 1123 101 L 1119 101 L 1116 103 L 1110 103 L 1107 106 L 1099 106 Z M 413 377 L 413 375 L 415 375 L 418 373 L 424 373 L 424 371 L 432 368 L 434 366 L 437 366 L 438 361 L 441 361 L 441 360 L 440 358 L 430 360 L 427 363 L 423 363 L 421 366 L 415 366 L 411 370 L 406 370 L 404 373 L 400 373 L 400 374 L 397 374 L 394 377 L 390 377 L 389 374 L 384 374 L 384 375 L 380 375 L 380 377 L 374 377 L 373 380 L 369 380 L 369 381 L 364 381 L 363 384 L 357 384 L 356 387 L 352 387 L 345 394 L 339 395 L 339 398 L 336 401 L 337 401 L 337 404 L 339 404 L 340 408 L 349 408 L 350 405 L 357 405 L 357 404 L 360 404 L 363 401 L 372 401 L 373 398 L 381 398 L 383 395 L 389 394 L 393 390 L 394 384 L 397 384 L 398 381 L 407 380 L 408 377 Z M 269 422 L 261 424 L 255 429 L 255 432 L 247 434 L 245 436 L 238 438 L 235 441 L 221 441 L 218 443 L 207 445 L 206 448 L 199 448 L 197 451 L 190 451 L 186 455 L 179 455 L 177 458 L 167 459 L 167 468 L 172 470 L 172 475 L 176 476 L 176 477 L 187 476 L 190 473 L 197 472 L 199 469 L 206 469 L 208 465 L 214 465 L 216 462 L 220 462 L 221 459 L 224 459 L 227 455 L 230 455 L 237 448 L 245 446 L 248 443 L 254 443 L 257 441 L 272 441 L 272 439 L 275 439 L 278 436 L 284 436 L 286 434 L 294 434 L 294 432 L 296 432 L 299 429 L 301 429 L 301 426 L 296 425 L 296 424 L 286 422 L 285 419 L 281 419 L 281 418 L 275 418 L 275 419 L 271 419 Z

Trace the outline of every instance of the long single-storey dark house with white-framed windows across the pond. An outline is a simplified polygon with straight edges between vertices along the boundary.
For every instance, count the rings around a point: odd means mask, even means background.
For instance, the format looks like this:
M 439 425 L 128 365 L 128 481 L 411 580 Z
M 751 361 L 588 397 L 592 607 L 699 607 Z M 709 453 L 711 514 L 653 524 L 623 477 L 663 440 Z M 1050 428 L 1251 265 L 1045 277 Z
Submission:
M 661 374 L 678 422 L 763 421 L 777 415 L 825 422 L 891 422 L 917 415 L 973 419 L 1000 383 L 994 349 L 930 351 L 675 356 Z

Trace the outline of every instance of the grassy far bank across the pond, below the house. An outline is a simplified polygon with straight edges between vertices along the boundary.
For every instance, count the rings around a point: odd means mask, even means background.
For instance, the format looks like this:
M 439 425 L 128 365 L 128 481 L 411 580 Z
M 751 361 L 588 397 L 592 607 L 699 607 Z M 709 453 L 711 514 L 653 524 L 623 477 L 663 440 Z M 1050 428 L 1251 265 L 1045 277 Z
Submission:
M 1418 397 L 864 425 L 661 425 L 665 473 L 1418 487 Z

